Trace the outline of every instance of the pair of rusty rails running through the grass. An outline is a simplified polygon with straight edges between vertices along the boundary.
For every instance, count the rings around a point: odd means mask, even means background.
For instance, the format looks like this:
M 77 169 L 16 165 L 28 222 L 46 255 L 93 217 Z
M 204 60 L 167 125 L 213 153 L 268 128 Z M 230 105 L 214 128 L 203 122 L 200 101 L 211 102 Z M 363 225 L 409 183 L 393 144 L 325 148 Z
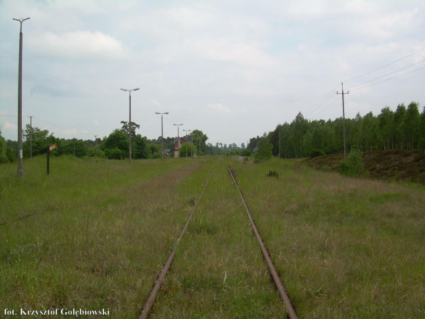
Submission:
M 256 235 L 256 239 L 258 240 L 258 244 L 260 245 L 260 249 L 263 252 L 263 258 L 264 258 L 264 260 L 267 263 L 267 266 L 269 268 L 269 274 L 271 275 L 271 278 L 274 281 L 274 285 L 276 286 L 276 289 L 278 290 L 278 292 L 280 294 L 280 299 L 282 300 L 282 303 L 284 304 L 284 307 L 286 309 L 286 316 L 289 319 L 297 319 L 298 317 L 295 314 L 295 310 L 293 309 L 293 306 L 291 305 L 291 302 L 289 300 L 287 292 L 284 290 L 284 287 L 282 285 L 282 281 L 280 280 L 280 276 L 278 275 L 278 272 L 276 271 L 276 268 L 274 267 L 273 261 L 271 261 L 269 253 L 267 252 L 267 248 L 265 247 L 263 239 L 260 237 L 260 233 L 258 233 L 258 230 L 256 228 L 256 224 L 255 224 L 254 220 L 252 219 L 252 215 L 251 215 L 251 213 L 250 213 L 250 211 L 247 207 L 245 199 L 243 198 L 242 191 L 241 191 L 239 185 L 237 184 L 236 179 L 234 178 L 234 172 L 232 171 L 231 167 L 228 167 L 228 171 L 229 171 L 229 174 L 230 174 L 230 176 L 231 176 L 231 178 L 234 182 L 236 189 L 238 189 L 238 191 L 239 191 L 239 194 L 241 196 L 241 200 L 243 202 L 243 206 L 245 206 L 247 216 L 250 220 L 252 230 L 254 231 L 254 234 Z M 210 176 L 208 176 L 208 179 L 207 179 L 207 181 L 206 181 L 206 183 L 205 183 L 205 185 L 202 189 L 202 192 L 200 193 L 199 197 L 197 198 L 195 205 L 191 209 L 191 212 L 189 213 L 189 216 L 186 219 L 184 227 L 182 228 L 182 231 L 181 231 L 178 239 L 175 241 L 174 248 L 171 251 L 169 258 L 167 259 L 164 267 L 162 268 L 162 271 L 160 272 L 158 279 L 156 280 L 156 283 L 154 284 L 154 287 L 151 290 L 151 294 L 149 294 L 149 297 L 147 298 L 145 305 L 141 309 L 141 314 L 138 317 L 138 319 L 146 319 L 146 318 L 149 317 L 150 311 L 151 311 L 152 307 L 154 306 L 156 297 L 158 295 L 158 292 L 160 291 L 162 283 L 165 281 L 165 277 L 167 276 L 167 272 L 171 268 L 171 264 L 173 263 L 173 259 L 175 257 L 175 252 L 177 251 L 178 245 L 180 244 L 180 241 L 182 240 L 182 237 L 183 237 L 184 233 L 186 232 L 186 229 L 189 226 L 189 222 L 191 221 L 191 218 L 193 216 L 193 212 L 197 208 L 197 203 L 202 198 L 202 195 L 203 195 L 203 193 L 206 189 L 206 186 L 208 185 L 210 177 L 213 175 L 213 172 L 214 171 L 212 171 Z

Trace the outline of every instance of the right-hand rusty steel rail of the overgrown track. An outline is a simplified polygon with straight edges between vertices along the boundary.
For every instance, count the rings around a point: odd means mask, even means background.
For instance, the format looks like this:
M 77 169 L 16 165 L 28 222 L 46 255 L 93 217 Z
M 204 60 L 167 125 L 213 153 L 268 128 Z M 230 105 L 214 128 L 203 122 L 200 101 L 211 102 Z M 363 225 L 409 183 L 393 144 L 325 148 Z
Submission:
M 295 314 L 295 310 L 293 309 L 293 307 L 291 305 L 291 300 L 289 300 L 288 294 L 284 290 L 284 287 L 282 285 L 282 281 L 280 281 L 280 276 L 278 275 L 278 272 L 276 271 L 276 268 L 274 267 L 273 261 L 271 261 L 269 252 L 267 252 L 267 249 L 265 247 L 265 244 L 263 242 L 263 239 L 261 238 L 260 233 L 258 233 L 258 230 L 257 230 L 257 227 L 255 225 L 255 222 L 252 219 L 250 210 L 248 209 L 248 206 L 245 203 L 245 200 L 243 198 L 241 188 L 239 187 L 238 183 L 234 179 L 232 169 L 230 169 L 230 167 L 228 167 L 228 169 L 229 169 L 229 172 L 230 172 L 230 176 L 232 176 L 234 185 L 236 185 L 236 188 L 238 189 L 239 194 L 241 194 L 241 199 L 242 199 L 242 202 L 243 202 L 243 206 L 245 206 L 245 209 L 247 211 L 248 218 L 250 219 L 252 229 L 254 230 L 254 233 L 255 233 L 255 235 L 256 235 L 256 237 L 258 239 L 258 243 L 260 244 L 260 248 L 261 248 L 261 251 L 263 252 L 264 259 L 265 259 L 267 265 L 269 266 L 270 274 L 273 277 L 273 280 L 274 280 L 274 283 L 275 283 L 276 287 L 278 288 L 278 292 L 280 294 L 280 298 L 282 299 L 282 302 L 284 303 L 284 305 L 285 305 L 285 307 L 287 309 L 287 316 L 289 317 L 289 319 L 298 319 L 297 315 Z

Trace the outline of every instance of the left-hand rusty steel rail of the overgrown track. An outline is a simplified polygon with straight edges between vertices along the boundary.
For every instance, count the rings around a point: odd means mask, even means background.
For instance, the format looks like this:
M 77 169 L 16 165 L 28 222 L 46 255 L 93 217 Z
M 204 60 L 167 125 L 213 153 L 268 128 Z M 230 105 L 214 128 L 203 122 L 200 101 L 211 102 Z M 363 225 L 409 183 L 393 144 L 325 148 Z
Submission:
M 197 203 L 202 197 L 202 194 L 204 193 L 204 190 L 206 188 L 206 185 L 208 185 L 208 182 L 210 180 L 211 175 L 213 175 L 214 169 L 211 171 L 210 176 L 208 176 L 208 180 L 206 180 L 206 183 L 204 185 L 204 188 L 201 191 L 201 194 L 197 198 L 195 204 L 193 205 L 193 208 L 191 209 L 191 213 L 189 213 L 189 217 L 186 219 L 186 224 L 184 224 L 184 227 L 182 229 L 182 232 L 180 233 L 180 236 L 178 237 L 177 241 L 175 241 L 174 249 L 171 251 L 167 262 L 165 263 L 164 267 L 162 268 L 162 272 L 158 276 L 158 279 L 156 280 L 156 283 L 154 285 L 154 288 L 151 290 L 151 294 L 149 295 L 149 298 L 147 298 L 145 306 L 142 308 L 141 315 L 138 317 L 138 319 L 146 319 L 149 316 L 149 312 L 151 311 L 152 307 L 154 306 L 156 296 L 158 295 L 158 292 L 162 286 L 162 283 L 164 282 L 165 276 L 167 275 L 168 270 L 171 267 L 171 263 L 173 263 L 175 252 L 177 252 L 178 244 L 180 244 L 180 241 L 182 240 L 182 237 L 184 233 L 186 232 L 187 227 L 189 226 L 189 222 L 191 221 L 193 211 L 195 211 Z

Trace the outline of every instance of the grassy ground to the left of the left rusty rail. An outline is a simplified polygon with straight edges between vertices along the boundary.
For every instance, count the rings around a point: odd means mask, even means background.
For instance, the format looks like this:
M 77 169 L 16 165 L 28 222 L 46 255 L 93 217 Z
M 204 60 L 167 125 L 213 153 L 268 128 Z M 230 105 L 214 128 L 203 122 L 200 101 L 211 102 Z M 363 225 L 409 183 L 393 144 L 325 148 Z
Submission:
M 1 167 L 1 307 L 104 308 L 134 318 L 200 191 L 191 181 L 204 178 L 204 164 L 53 158 L 45 176 L 43 163 L 28 161 L 23 180 L 16 167 Z

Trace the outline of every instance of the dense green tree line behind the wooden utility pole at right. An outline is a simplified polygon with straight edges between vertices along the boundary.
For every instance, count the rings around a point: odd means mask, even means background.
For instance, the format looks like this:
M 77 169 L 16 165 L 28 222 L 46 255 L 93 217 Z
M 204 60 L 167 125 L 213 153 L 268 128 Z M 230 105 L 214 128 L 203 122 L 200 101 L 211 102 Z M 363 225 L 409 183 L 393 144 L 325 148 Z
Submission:
M 369 152 L 373 150 L 425 149 L 425 106 L 420 113 L 417 102 L 407 107 L 399 104 L 395 111 L 385 106 L 379 115 L 372 112 L 363 117 L 345 119 L 347 149 Z M 253 137 L 247 147 L 254 150 L 261 139 L 272 145 L 272 154 L 283 158 L 311 156 L 313 151 L 324 154 L 343 153 L 343 118 L 310 121 L 298 113 L 291 123 L 279 124 L 263 137 Z

